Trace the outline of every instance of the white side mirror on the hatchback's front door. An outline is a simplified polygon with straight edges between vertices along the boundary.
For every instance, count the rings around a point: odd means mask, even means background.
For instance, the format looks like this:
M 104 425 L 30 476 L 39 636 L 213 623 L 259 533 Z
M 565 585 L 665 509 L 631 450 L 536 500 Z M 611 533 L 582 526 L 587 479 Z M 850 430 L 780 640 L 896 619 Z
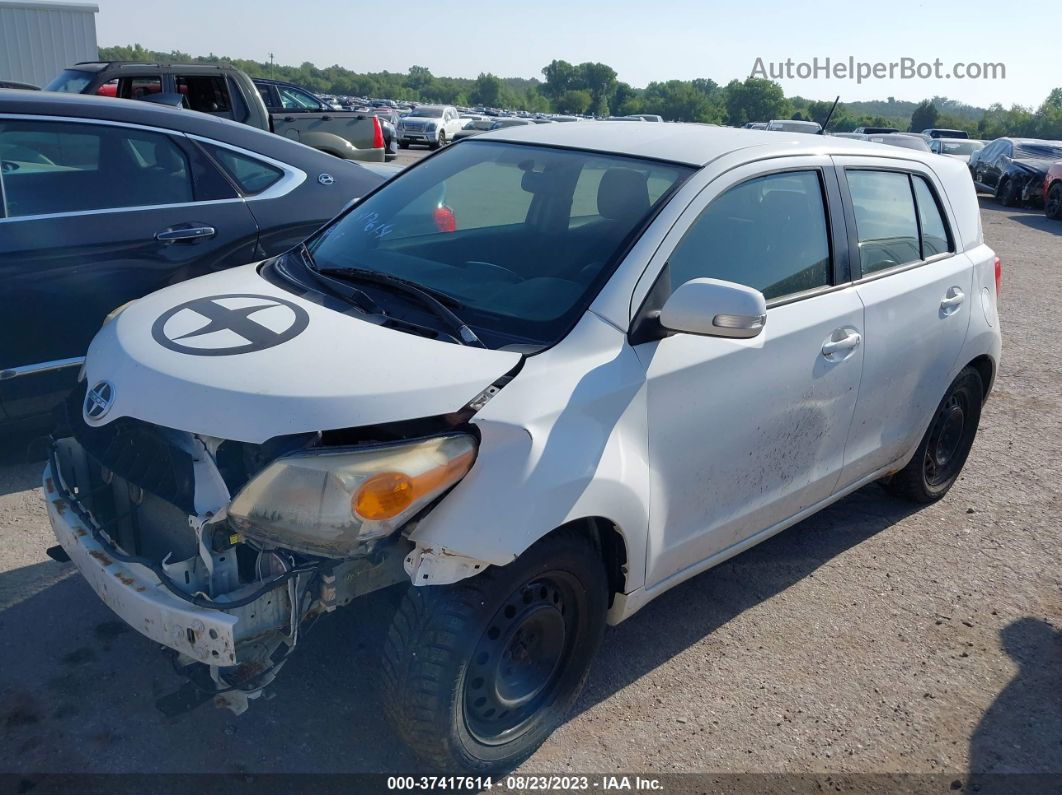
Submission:
M 669 331 L 748 340 L 764 330 L 767 299 L 733 281 L 691 279 L 671 293 L 660 322 Z

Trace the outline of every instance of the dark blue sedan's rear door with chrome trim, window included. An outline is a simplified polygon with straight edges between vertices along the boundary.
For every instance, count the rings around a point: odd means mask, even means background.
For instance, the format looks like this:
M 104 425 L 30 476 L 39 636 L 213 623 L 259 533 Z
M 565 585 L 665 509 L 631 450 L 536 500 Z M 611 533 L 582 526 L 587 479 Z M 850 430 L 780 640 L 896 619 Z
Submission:
M 190 140 L 114 122 L 0 117 L 0 400 L 47 411 L 116 307 L 253 259 L 258 228 Z

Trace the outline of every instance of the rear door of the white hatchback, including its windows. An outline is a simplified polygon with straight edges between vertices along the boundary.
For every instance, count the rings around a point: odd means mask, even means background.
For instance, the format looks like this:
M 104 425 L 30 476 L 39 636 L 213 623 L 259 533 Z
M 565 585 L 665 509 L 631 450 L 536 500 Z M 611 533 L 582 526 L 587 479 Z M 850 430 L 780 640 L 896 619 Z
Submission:
M 866 351 L 843 487 L 903 463 L 955 376 L 970 325 L 973 270 L 956 253 L 943 187 L 927 167 L 835 158 L 853 269 L 866 307 Z

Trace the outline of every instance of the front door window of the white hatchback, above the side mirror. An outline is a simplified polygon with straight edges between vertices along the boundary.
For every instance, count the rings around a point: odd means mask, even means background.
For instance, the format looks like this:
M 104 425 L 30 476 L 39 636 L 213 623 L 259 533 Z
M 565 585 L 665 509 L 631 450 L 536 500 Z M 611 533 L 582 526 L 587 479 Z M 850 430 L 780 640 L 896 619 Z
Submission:
M 829 284 L 819 172 L 769 174 L 731 188 L 693 222 L 668 264 L 672 287 L 723 279 L 768 300 Z

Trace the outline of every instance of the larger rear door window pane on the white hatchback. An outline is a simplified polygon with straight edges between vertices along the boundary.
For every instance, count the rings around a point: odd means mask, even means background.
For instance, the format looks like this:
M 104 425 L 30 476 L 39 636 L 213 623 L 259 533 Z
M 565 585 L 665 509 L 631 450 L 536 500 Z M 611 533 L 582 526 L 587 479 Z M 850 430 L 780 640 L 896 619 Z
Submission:
M 918 262 L 919 223 L 910 178 L 897 171 L 849 171 L 863 276 Z

